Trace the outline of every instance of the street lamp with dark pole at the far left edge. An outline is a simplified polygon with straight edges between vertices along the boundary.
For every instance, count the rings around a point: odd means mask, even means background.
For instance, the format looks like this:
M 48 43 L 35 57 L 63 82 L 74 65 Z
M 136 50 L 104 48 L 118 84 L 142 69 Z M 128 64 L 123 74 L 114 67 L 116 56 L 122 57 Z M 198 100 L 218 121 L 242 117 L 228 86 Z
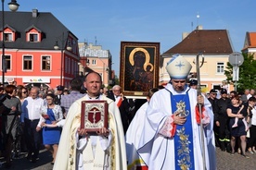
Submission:
M 5 55 L 5 8 L 4 8 L 5 0 L 2 0 L 2 83 L 3 87 L 5 86 L 5 73 L 6 73 L 6 55 Z M 11 0 L 10 3 L 8 3 L 9 9 L 12 12 L 15 12 L 19 8 L 19 4 L 16 0 Z

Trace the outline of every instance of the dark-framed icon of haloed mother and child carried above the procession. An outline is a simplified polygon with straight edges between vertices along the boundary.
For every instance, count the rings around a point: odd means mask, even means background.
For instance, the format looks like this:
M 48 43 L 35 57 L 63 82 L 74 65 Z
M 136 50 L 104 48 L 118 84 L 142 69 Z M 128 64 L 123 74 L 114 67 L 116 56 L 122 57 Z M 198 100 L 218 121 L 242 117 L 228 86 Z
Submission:
M 120 85 L 126 96 L 159 86 L 160 42 L 121 42 Z

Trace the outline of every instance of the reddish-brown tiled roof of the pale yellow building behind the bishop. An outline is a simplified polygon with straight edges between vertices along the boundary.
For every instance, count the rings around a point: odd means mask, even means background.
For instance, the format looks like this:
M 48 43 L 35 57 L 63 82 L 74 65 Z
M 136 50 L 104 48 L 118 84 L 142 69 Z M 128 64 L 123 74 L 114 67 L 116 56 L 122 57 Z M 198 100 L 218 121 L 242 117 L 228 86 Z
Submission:
M 193 30 L 182 41 L 163 55 L 173 54 L 232 54 L 233 48 L 227 30 Z

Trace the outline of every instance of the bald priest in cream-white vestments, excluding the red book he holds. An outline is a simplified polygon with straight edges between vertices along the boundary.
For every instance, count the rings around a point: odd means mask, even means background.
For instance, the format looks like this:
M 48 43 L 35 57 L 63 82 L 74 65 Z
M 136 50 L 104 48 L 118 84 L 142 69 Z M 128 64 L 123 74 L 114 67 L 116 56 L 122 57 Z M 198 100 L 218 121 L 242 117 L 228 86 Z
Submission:
M 72 103 L 59 142 L 55 170 L 127 169 L 125 141 L 119 108 L 114 101 L 99 93 L 101 77 L 88 73 L 84 80 L 87 94 Z M 108 129 L 96 134 L 81 128 L 82 101 L 103 100 L 109 104 Z

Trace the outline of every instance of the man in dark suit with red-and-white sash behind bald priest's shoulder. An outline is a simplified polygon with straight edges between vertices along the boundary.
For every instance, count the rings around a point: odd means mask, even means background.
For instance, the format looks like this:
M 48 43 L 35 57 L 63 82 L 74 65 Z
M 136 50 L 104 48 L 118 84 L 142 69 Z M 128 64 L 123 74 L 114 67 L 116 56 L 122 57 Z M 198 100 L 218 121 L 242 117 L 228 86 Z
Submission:
M 119 107 L 121 119 L 122 119 L 122 127 L 124 134 L 126 133 L 129 127 L 129 108 L 130 105 L 127 99 L 123 96 L 121 92 L 121 87 L 119 85 L 115 85 L 112 88 L 113 95 L 109 95 L 108 97 L 115 101 L 117 106 Z

